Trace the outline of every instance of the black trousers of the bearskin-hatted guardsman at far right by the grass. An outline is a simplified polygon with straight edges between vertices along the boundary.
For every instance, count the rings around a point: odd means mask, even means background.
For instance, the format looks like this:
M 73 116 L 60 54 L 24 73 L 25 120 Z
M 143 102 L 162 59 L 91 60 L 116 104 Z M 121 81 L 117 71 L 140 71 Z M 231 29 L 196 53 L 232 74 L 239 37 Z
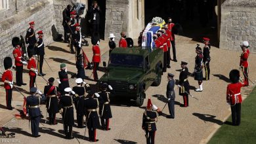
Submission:
M 231 106 L 231 113 L 233 126 L 239 126 L 241 122 L 241 103 Z

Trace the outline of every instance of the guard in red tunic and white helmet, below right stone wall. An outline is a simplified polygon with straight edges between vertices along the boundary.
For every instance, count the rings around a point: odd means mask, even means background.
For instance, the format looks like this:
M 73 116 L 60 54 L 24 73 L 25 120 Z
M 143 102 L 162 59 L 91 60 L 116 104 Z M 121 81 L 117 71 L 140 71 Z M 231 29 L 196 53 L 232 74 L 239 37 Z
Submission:
M 249 85 L 249 81 L 248 81 L 248 66 L 249 66 L 249 63 L 247 62 L 247 59 L 248 59 L 249 54 L 250 54 L 248 41 L 244 41 L 241 48 L 243 50 L 243 53 L 240 56 L 240 67 L 242 68 L 242 71 L 243 71 L 243 74 L 244 74 L 245 86 L 248 86 Z

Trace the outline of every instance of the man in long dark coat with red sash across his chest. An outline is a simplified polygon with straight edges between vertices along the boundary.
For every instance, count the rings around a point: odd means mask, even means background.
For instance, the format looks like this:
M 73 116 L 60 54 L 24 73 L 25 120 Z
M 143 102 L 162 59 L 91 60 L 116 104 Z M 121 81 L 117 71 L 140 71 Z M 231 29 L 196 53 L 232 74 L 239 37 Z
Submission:
M 48 79 L 49 85 L 45 86 L 43 94 L 47 96 L 46 108 L 49 113 L 49 124 L 57 124 L 56 113 L 58 113 L 58 96 L 60 96 L 60 89 L 54 86 L 54 78 Z

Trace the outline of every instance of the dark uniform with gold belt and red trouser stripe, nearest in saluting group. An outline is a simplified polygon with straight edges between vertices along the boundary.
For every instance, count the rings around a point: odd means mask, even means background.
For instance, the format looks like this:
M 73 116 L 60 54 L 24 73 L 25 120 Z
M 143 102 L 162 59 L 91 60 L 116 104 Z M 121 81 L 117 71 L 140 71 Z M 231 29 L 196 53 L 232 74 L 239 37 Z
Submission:
M 86 98 L 84 100 L 84 107 L 86 113 L 87 128 L 89 130 L 89 141 L 97 141 L 96 139 L 96 129 L 100 126 L 100 121 L 98 120 L 98 99 L 96 98 Z

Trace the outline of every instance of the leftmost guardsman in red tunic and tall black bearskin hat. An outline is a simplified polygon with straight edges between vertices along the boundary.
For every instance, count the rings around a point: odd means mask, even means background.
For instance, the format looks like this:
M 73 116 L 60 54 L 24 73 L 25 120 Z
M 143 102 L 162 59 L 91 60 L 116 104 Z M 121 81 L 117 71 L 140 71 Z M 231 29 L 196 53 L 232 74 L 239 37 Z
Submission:
M 9 110 L 12 110 L 12 86 L 13 86 L 13 77 L 12 77 L 12 58 L 6 57 L 3 60 L 5 66 L 5 72 L 2 75 L 2 82 L 5 83 L 5 94 L 6 94 L 6 107 Z

